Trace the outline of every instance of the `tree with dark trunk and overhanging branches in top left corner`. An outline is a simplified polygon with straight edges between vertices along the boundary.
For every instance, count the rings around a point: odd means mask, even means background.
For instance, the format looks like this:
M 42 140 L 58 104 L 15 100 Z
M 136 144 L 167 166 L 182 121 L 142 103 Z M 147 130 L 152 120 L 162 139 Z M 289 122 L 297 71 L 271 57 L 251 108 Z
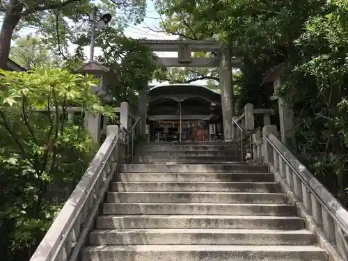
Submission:
M 38 26 L 46 41 L 55 42 L 57 52 L 69 58 L 64 54 L 68 43 L 74 42 L 81 31 L 86 33 L 82 24 L 88 20 L 86 14 L 93 5 L 93 0 L 0 0 L 0 14 L 4 17 L 0 31 L 0 68 L 6 66 L 15 30 L 26 24 Z M 145 15 L 145 0 L 101 0 L 98 6 L 113 14 L 113 24 L 119 27 L 128 22 L 139 23 Z M 116 15 L 117 10 L 122 10 L 125 15 Z

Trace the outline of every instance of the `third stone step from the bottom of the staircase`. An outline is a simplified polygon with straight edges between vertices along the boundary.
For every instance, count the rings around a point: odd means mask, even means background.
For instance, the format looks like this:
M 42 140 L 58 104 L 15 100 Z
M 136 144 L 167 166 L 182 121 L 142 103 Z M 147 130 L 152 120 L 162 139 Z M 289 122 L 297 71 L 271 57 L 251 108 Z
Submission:
M 97 229 L 132 228 L 221 228 L 301 230 L 303 219 L 297 216 L 193 216 L 193 215 L 129 215 L 98 216 Z

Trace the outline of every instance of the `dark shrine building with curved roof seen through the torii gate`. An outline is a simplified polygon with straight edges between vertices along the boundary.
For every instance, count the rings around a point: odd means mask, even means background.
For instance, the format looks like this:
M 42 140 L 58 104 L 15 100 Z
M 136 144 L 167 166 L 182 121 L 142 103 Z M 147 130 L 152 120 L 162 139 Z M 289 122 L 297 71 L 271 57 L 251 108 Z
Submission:
M 148 141 L 216 141 L 223 132 L 221 97 L 204 86 L 156 86 L 149 99 Z

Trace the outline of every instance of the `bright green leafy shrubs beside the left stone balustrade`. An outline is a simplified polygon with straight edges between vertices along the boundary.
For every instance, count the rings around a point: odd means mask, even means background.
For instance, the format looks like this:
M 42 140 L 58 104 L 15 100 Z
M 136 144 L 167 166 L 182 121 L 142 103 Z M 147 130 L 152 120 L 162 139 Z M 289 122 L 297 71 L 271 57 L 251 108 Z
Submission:
M 112 111 L 90 90 L 88 75 L 0 73 L 1 256 L 29 260 L 95 154 L 83 122 L 68 121 L 67 106 L 109 117 Z

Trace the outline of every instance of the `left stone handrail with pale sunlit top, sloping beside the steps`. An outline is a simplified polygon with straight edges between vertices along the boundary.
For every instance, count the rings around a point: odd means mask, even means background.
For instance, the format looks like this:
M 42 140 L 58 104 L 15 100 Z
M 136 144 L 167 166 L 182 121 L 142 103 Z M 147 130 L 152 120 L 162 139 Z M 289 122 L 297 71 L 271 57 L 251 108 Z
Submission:
M 30 261 L 78 259 L 113 173 L 122 162 L 118 126 L 108 126 L 108 134 Z

